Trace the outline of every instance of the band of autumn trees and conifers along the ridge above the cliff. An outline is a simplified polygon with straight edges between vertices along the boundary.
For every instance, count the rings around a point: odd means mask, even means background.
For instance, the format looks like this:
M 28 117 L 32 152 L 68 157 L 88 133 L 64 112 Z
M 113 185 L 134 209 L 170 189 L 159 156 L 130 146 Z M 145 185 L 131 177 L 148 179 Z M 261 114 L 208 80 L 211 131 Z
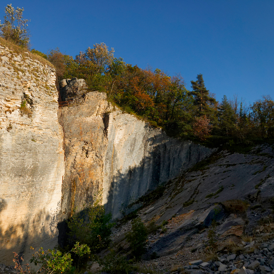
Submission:
M 142 69 L 114 57 L 114 49 L 94 44 L 76 58 L 57 49 L 47 54 L 59 79 L 85 79 L 90 90 L 107 93 L 107 99 L 128 113 L 138 114 L 169 135 L 204 142 L 211 137 L 227 142 L 274 138 L 274 102 L 263 96 L 250 106 L 226 96 L 219 103 L 206 89 L 203 75 L 187 90 L 181 75 L 169 76 L 156 68 Z M 215 140 L 216 140 L 215 138 Z M 222 141 L 221 141 L 222 142 Z

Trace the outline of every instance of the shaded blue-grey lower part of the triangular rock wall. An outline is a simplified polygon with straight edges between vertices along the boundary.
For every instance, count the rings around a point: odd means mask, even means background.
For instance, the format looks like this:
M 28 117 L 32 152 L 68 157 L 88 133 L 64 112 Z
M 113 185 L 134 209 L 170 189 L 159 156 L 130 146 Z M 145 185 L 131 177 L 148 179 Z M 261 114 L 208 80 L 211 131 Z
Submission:
M 113 219 L 120 219 L 125 208 L 149 190 L 173 179 L 198 161 L 209 156 L 209 150 L 178 139 L 151 138 L 148 140 L 152 149 L 137 166 L 130 166 L 122 173 L 112 170 L 109 175 L 110 187 L 105 204 L 106 211 L 111 212 Z M 111 166 L 119 166 L 118 154 L 114 151 Z M 115 164 L 117 162 L 117 165 Z M 132 209 L 134 210 L 134 209 Z

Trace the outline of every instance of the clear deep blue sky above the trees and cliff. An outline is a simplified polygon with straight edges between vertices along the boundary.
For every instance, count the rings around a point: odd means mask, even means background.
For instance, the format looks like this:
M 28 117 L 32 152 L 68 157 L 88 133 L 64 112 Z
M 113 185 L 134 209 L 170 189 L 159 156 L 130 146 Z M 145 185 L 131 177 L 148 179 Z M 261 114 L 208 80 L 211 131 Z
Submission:
M 7 4 L 1 1 L 1 22 Z M 181 73 L 189 90 L 202 73 L 217 100 L 274 97 L 273 0 L 16 0 L 12 6 L 24 8 L 39 51 L 59 47 L 75 57 L 104 42 L 126 63 Z

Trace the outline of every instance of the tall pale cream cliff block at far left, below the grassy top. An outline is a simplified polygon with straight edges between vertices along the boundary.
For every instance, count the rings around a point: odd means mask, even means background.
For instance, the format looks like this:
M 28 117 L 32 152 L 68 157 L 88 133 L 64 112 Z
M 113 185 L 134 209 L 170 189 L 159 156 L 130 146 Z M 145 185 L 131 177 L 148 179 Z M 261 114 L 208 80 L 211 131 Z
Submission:
M 65 171 L 55 70 L 0 45 L 0 260 L 57 244 Z

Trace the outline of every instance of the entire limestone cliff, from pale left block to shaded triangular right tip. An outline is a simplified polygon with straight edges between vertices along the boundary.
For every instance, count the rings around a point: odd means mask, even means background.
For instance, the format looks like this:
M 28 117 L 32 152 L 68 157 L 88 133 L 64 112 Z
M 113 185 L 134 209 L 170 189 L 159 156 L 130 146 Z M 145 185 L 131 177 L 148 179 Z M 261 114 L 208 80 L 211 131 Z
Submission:
M 42 61 L 41 61 L 42 62 Z M 81 79 L 62 81 L 27 52 L 0 45 L 0 262 L 29 247 L 53 248 L 73 206 L 104 189 L 114 218 L 147 190 L 212 153 L 169 138 L 89 92 Z M 68 83 L 68 85 L 67 85 Z M 57 229 L 58 227 L 58 229 Z

